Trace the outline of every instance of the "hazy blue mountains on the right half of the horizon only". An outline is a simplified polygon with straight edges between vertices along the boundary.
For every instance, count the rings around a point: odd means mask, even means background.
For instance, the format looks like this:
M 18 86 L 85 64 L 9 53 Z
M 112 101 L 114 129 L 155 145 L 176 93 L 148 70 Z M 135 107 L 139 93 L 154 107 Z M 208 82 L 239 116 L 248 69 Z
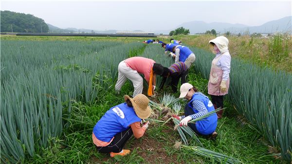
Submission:
M 275 33 L 279 32 L 292 32 L 292 17 L 284 17 L 278 20 L 272 20 L 267 23 L 264 23 L 260 26 L 247 26 L 244 24 L 231 24 L 231 23 L 221 23 L 221 22 L 212 22 L 205 23 L 203 21 L 190 21 L 183 24 L 180 24 L 178 27 L 183 27 L 190 30 L 190 34 L 195 33 L 205 33 L 207 30 L 215 29 L 216 32 L 225 33 L 227 31 L 237 34 L 237 33 Z M 156 34 L 168 34 L 171 30 L 157 30 Z

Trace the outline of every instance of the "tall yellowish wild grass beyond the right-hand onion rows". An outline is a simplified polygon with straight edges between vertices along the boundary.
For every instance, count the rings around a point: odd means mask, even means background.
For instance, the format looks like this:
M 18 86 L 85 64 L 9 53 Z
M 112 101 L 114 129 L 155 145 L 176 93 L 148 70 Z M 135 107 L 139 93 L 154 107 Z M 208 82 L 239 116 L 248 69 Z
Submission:
M 174 36 L 184 44 L 207 51 L 209 40 L 216 36 Z M 262 67 L 292 73 L 292 38 L 290 35 L 277 34 L 268 38 L 250 36 L 227 36 L 229 52 L 232 57 L 252 62 Z

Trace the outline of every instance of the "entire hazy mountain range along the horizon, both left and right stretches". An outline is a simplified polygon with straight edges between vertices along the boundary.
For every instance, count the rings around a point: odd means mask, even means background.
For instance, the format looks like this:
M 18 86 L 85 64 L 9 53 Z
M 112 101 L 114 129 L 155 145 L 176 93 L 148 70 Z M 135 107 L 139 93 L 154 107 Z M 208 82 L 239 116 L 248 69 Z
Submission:
M 76 29 L 76 28 L 66 28 L 61 29 L 55 27 L 51 24 L 48 24 L 50 33 L 101 33 L 101 34 L 111 34 L 119 30 L 107 30 L 107 31 L 98 31 L 91 29 Z M 215 29 L 217 33 L 226 33 L 229 31 L 232 34 L 253 34 L 253 33 L 275 33 L 275 32 L 292 32 L 292 16 L 280 18 L 277 20 L 272 20 L 266 22 L 260 26 L 247 26 L 244 24 L 232 24 L 232 23 L 223 23 L 223 22 L 212 22 L 206 23 L 203 21 L 190 21 L 185 22 L 178 27 L 183 27 L 190 30 L 190 34 L 199 34 L 205 33 L 207 30 L 211 31 Z M 155 34 L 168 34 L 170 31 L 175 30 L 156 30 Z M 135 32 L 141 32 L 141 30 L 134 30 Z

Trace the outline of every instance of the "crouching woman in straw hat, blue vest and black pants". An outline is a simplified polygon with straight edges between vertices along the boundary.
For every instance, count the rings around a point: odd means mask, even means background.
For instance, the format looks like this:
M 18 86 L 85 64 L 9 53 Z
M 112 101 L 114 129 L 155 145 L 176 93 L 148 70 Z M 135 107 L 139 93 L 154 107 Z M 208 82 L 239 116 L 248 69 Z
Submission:
M 110 153 L 110 157 L 127 155 L 130 150 L 123 149 L 128 139 L 134 135 L 140 138 L 148 128 L 149 122 L 142 127 L 142 119 L 151 114 L 149 99 L 144 94 L 134 98 L 125 95 L 125 103 L 114 106 L 96 123 L 92 131 L 92 140 L 101 153 Z

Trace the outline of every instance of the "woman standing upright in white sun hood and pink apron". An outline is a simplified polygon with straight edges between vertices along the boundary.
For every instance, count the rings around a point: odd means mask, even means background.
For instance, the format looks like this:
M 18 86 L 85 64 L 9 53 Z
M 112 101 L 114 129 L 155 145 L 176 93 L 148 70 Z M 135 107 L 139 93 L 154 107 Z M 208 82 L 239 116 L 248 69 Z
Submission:
M 229 88 L 231 56 L 228 51 L 228 42 L 225 36 L 218 36 L 209 41 L 211 51 L 216 54 L 212 61 L 208 83 L 208 94 L 211 95 L 215 109 L 223 109 L 223 96 L 228 93 Z M 222 114 L 223 110 L 217 112 L 219 119 Z

